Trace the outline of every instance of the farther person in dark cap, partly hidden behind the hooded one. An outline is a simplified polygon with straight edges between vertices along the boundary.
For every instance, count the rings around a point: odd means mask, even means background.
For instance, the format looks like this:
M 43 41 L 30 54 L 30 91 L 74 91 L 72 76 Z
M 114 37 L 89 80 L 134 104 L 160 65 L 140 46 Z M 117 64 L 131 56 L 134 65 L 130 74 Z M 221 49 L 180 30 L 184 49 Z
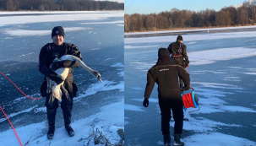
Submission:
M 182 66 L 182 68 L 186 68 L 189 66 L 187 46 L 185 46 L 182 43 L 182 41 L 183 41 L 182 35 L 178 35 L 177 41 L 172 42 L 172 44 L 168 46 L 168 50 L 171 54 L 171 61 L 176 62 L 178 65 Z M 179 79 L 180 79 L 180 89 L 182 90 L 183 81 L 182 81 L 182 78 L 179 78 Z

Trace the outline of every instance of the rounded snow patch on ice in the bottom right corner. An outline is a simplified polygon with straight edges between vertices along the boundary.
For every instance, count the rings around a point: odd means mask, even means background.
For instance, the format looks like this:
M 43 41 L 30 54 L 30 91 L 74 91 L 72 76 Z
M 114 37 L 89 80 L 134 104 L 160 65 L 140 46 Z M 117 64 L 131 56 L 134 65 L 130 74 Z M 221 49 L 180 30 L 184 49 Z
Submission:
M 205 140 L 207 139 L 207 140 Z M 223 134 L 220 132 L 209 132 L 196 134 L 185 138 L 186 145 L 207 145 L 207 146 L 241 146 L 241 145 L 256 145 L 255 142 L 245 138 L 237 138 L 232 135 Z

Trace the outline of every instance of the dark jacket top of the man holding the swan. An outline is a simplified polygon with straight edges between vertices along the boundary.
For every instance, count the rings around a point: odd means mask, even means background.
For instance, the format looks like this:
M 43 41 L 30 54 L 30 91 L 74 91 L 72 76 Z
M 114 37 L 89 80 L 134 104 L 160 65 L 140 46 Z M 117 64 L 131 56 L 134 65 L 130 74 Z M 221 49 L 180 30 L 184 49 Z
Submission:
M 52 71 L 50 65 L 53 60 L 57 57 L 63 57 L 64 55 L 74 55 L 75 57 L 79 57 L 82 60 L 81 53 L 77 46 L 74 44 L 69 44 L 63 42 L 61 46 L 56 46 L 53 43 L 48 43 L 41 48 L 41 52 L 39 55 L 39 71 L 45 75 L 46 77 L 51 78 L 53 81 L 57 78 L 57 74 Z M 80 64 L 76 61 L 63 61 L 63 68 L 70 68 L 68 73 L 68 78 L 65 80 L 65 89 L 68 90 L 68 93 L 73 94 L 73 71 L 74 67 L 79 68 Z

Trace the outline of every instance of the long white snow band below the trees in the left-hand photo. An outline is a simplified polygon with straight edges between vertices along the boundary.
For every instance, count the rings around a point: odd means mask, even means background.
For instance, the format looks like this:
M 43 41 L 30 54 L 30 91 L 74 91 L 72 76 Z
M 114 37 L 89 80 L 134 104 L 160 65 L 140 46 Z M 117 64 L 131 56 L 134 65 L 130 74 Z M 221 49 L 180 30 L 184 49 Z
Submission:
M 0 12 L 0 14 L 30 14 L 1 17 L 0 26 L 9 24 L 33 24 L 46 22 L 65 22 L 78 20 L 102 20 L 123 17 L 124 11 L 47 11 L 47 12 Z M 35 15 L 31 15 L 35 14 Z M 46 15 L 36 15 L 46 14 Z M 49 34 L 49 33 L 48 33 Z

